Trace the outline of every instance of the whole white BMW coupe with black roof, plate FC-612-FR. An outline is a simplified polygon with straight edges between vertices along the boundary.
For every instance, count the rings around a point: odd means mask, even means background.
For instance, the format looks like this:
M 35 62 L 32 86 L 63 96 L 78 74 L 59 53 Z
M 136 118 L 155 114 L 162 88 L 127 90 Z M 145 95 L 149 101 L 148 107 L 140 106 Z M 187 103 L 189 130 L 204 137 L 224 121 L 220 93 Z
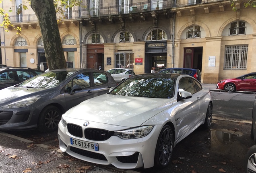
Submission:
M 62 152 L 120 169 L 166 167 L 173 148 L 212 121 L 208 89 L 188 75 L 139 74 L 62 115 Z

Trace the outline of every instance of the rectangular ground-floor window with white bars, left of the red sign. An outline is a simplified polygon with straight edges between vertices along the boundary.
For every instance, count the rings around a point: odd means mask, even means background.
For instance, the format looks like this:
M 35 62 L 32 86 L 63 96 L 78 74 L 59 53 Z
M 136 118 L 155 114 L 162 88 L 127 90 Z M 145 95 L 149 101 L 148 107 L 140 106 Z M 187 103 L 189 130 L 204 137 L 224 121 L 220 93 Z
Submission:
M 133 52 L 120 52 L 116 53 L 116 67 L 115 68 L 128 68 L 134 67 Z

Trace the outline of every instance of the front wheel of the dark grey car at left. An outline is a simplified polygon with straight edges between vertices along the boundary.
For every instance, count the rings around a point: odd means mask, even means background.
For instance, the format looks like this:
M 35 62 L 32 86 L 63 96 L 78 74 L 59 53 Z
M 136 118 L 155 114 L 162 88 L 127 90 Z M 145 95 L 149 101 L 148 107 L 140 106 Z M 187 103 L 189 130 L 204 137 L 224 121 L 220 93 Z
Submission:
M 55 106 L 47 106 L 40 113 L 38 119 L 38 130 L 41 132 L 49 133 L 58 129 L 62 113 L 60 109 Z

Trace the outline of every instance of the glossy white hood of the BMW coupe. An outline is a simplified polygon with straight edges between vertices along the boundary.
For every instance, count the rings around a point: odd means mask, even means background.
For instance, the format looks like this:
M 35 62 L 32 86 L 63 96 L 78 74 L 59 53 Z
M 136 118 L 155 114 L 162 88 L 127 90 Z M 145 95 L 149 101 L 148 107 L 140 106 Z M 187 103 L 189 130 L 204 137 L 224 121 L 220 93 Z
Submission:
M 173 99 L 154 99 L 105 94 L 84 101 L 63 117 L 124 127 L 136 127 L 171 107 Z

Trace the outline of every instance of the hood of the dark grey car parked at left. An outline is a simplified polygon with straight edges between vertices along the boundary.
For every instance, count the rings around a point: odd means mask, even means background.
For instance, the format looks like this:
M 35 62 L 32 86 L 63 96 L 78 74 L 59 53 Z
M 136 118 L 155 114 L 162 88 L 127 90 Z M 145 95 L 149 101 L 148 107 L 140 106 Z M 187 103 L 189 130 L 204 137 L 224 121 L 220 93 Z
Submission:
M 13 102 L 17 101 L 26 97 L 30 97 L 42 91 L 43 89 L 30 89 L 30 88 L 23 88 L 23 87 L 8 87 L 5 89 L 0 90 L 0 103 L 4 102 Z

